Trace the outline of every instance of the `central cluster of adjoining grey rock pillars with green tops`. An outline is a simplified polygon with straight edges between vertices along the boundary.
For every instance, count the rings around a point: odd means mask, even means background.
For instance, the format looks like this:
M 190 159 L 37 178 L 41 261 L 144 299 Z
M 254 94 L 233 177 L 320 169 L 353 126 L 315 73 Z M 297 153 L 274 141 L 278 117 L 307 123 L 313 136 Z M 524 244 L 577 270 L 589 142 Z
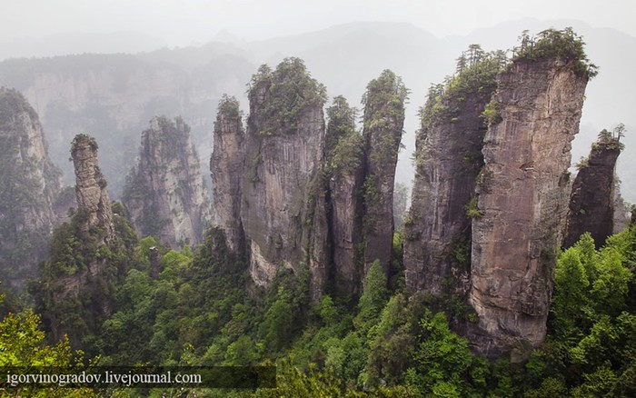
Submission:
M 282 268 L 308 269 L 316 301 L 324 291 L 359 294 L 375 259 L 389 272 L 406 94 L 384 71 L 368 86 L 363 134 L 342 96 L 327 110 L 325 133 L 324 86 L 286 58 L 253 75 L 244 142 L 238 103 L 221 102 L 211 161 L 217 222 L 230 246 L 244 239 L 253 284 L 267 287 Z

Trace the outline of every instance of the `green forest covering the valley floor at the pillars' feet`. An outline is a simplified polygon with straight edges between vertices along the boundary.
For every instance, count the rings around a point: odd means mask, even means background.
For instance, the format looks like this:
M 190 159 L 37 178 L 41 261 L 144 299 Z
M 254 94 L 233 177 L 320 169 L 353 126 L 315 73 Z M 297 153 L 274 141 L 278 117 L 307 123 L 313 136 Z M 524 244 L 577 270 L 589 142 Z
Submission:
M 461 314 L 460 303 L 407 298 L 403 286 L 389 290 L 378 262 L 366 275 L 357 304 L 326 294 L 310 304 L 308 274 L 285 269 L 263 294 L 246 294 L 247 264 L 227 251 L 219 230 L 209 230 L 206 243 L 194 252 L 160 246 L 161 272 L 155 279 L 149 274 L 153 246 L 152 237 L 135 244 L 134 267 L 115 288 L 113 313 L 95 333 L 84 335 L 100 354 L 97 364 L 278 367 L 275 389 L 200 390 L 200 396 L 631 396 L 636 391 L 636 225 L 611 236 L 600 250 L 585 234 L 559 254 L 548 337 L 528 363 L 516 365 L 474 355 L 468 341 L 452 332 L 462 319 L 474 321 Z M 456 249 L 463 255 L 462 247 Z M 21 333 L 16 326 L 5 328 L 17 324 L 11 316 L 0 324 L 5 331 L 0 340 Z M 25 316 L 35 324 L 33 315 Z M 76 330 L 69 333 L 73 341 Z M 27 334 L 20 335 L 26 342 Z M 69 353 L 68 343 L 61 344 L 64 349 L 55 350 Z

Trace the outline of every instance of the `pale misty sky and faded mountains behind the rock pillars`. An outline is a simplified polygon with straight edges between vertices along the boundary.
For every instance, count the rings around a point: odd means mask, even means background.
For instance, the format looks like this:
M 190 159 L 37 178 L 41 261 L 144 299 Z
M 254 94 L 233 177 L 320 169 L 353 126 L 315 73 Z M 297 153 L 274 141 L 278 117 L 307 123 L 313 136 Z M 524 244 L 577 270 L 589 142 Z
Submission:
M 601 66 L 588 85 L 572 159 L 587 154 L 602 128 L 627 124 L 619 174 L 626 198 L 636 202 L 631 2 L 1 1 L 0 85 L 23 91 L 34 104 L 68 184 L 72 136 L 94 134 L 117 197 L 154 114 L 184 116 L 207 170 L 220 96 L 236 95 L 246 110 L 250 76 L 285 56 L 302 57 L 330 96 L 343 94 L 358 107 L 366 83 L 384 68 L 402 75 L 412 94 L 397 179 L 410 183 L 417 110 L 429 85 L 452 74 L 463 49 L 472 43 L 487 51 L 511 48 L 524 29 L 572 26 Z

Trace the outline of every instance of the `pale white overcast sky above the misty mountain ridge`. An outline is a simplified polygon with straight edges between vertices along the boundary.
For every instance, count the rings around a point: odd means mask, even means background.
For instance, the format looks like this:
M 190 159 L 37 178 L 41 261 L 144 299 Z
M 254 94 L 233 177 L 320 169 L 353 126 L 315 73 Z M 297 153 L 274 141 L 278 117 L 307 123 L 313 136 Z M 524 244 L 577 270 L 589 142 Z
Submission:
M 578 19 L 636 36 L 628 0 L 0 0 L 0 42 L 60 33 L 139 32 L 167 45 L 203 44 L 221 30 L 246 40 L 353 21 L 400 21 L 434 35 L 522 17 Z

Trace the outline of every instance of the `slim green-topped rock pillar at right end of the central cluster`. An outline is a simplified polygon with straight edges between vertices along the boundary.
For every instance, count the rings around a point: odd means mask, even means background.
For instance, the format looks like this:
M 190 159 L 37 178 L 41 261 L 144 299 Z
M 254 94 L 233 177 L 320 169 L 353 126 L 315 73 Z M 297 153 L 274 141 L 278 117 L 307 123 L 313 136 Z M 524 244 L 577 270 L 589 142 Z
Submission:
M 407 93 L 402 80 L 385 70 L 367 85 L 363 98 L 365 272 L 376 259 L 385 272 L 391 265 L 393 184 Z

